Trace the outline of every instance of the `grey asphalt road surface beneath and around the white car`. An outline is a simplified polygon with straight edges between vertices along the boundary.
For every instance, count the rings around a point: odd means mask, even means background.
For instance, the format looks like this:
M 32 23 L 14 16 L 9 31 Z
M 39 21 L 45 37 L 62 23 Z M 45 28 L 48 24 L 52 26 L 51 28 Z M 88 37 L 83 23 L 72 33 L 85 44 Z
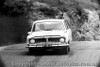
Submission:
M 73 42 L 68 54 L 62 51 L 29 54 L 25 45 L 16 44 L 0 51 L 0 67 L 100 67 L 100 41 Z

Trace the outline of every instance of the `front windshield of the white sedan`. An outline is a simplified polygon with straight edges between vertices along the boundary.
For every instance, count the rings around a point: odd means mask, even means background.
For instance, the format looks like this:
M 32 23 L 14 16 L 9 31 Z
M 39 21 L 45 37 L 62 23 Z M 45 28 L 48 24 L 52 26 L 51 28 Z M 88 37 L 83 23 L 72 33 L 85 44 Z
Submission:
M 51 31 L 51 30 L 65 30 L 65 25 L 59 21 L 37 22 L 34 25 L 34 31 Z

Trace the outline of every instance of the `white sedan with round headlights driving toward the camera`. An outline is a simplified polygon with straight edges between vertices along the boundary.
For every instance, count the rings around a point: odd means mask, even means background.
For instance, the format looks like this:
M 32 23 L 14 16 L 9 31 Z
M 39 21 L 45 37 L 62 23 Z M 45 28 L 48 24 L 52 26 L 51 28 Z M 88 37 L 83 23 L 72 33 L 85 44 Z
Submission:
M 26 47 L 29 52 L 40 49 L 70 51 L 72 32 L 64 19 L 37 20 L 28 34 Z

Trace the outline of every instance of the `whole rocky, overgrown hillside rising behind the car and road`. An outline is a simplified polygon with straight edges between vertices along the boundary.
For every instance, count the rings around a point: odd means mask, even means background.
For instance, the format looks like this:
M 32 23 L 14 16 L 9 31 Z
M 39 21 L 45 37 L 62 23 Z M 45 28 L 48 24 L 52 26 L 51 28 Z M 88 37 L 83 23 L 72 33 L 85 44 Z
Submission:
M 0 44 L 25 42 L 31 23 L 48 18 L 69 18 L 73 40 L 100 40 L 99 4 L 99 0 L 5 0 L 0 6 Z

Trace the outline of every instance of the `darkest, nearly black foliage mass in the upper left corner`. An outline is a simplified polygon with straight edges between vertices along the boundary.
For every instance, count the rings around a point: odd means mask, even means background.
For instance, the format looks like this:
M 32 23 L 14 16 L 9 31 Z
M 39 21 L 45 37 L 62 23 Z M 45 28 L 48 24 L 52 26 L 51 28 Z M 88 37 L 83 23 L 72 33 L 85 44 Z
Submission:
M 28 10 L 28 2 L 22 0 L 8 0 L 5 1 L 2 9 L 0 11 L 1 15 L 5 16 L 20 16 L 22 14 L 26 14 Z

